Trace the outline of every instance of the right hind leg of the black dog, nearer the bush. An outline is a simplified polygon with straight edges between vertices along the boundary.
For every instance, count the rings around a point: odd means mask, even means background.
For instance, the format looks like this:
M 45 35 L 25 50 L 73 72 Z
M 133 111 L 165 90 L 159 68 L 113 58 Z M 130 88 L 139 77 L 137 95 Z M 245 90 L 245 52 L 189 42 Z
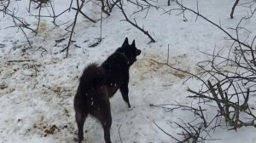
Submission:
M 112 117 L 110 112 L 110 105 L 98 107 L 91 112 L 93 116 L 100 120 L 102 128 L 104 129 L 104 139 L 106 143 L 111 143 L 110 139 L 110 128 L 112 124 Z

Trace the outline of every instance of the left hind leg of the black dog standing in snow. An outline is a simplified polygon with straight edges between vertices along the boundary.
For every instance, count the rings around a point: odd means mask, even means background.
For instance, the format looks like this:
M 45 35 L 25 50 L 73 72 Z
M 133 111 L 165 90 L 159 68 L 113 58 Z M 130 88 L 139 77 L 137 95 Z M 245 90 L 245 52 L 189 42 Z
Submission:
M 87 117 L 88 113 L 84 113 L 80 110 L 76 111 L 76 121 L 78 123 L 78 128 L 79 128 L 79 143 L 84 140 L 84 121 L 85 118 Z

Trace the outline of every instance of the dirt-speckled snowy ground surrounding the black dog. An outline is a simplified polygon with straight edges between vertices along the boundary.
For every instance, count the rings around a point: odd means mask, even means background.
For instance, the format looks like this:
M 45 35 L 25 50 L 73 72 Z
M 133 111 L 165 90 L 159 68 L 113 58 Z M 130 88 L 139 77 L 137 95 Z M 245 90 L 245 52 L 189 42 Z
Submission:
M 197 2 L 201 14 L 230 33 L 234 31 L 228 27 L 236 27 L 241 17 L 250 13 L 250 9 L 239 6 L 236 8 L 235 18 L 231 20 L 230 10 L 234 0 L 183 0 L 183 5 L 196 10 Z M 69 1 L 54 0 L 53 3 L 57 14 L 69 7 Z M 124 3 L 127 15 L 137 10 L 136 6 L 126 0 Z M 166 10 L 177 8 L 173 2 L 168 7 L 167 0 L 159 1 L 157 5 Z M 32 6 L 32 14 L 38 14 L 35 7 Z M 27 13 L 28 2 L 11 0 L 9 8 L 33 28 L 37 26 L 38 20 Z M 181 129 L 174 122 L 180 122 L 180 119 L 191 121 L 194 116 L 181 110 L 165 112 L 163 109 L 150 107 L 149 104 L 177 101 L 190 105 L 191 100 L 186 98 L 189 94 L 186 92 L 187 87 L 200 89 L 201 84 L 194 79 L 183 84 L 189 75 L 157 64 L 154 60 L 166 62 L 169 46 L 170 65 L 197 73 L 199 69 L 195 64 L 211 58 L 201 52 L 211 54 L 214 49 L 223 49 L 222 54 L 226 54 L 232 41 L 225 40 L 227 35 L 206 20 L 200 17 L 196 20 L 195 14 L 185 12 L 188 20 L 184 21 L 182 14 L 177 15 L 179 12 L 163 14 L 163 9 L 149 9 L 146 18 L 147 11 L 130 17 L 131 20 L 136 18 L 137 24 L 148 30 L 157 41 L 150 44 L 146 35 L 124 21 L 119 9 L 113 9 L 111 15 L 102 20 L 102 43 L 95 48 L 89 48 L 89 45 L 96 43 L 96 38 L 100 37 L 101 22 L 93 24 L 80 16 L 67 58 L 66 53 L 60 51 L 67 45 L 69 34 L 65 28 L 73 21 L 73 11 L 62 14 L 56 20 L 57 24 L 61 25 L 59 27 L 53 25 L 52 19 L 42 18 L 37 36 L 32 37 L 33 34 L 26 31 L 28 37 L 31 37 L 32 49 L 26 49 L 28 43 L 22 31 L 9 27 L 14 25 L 12 18 L 1 13 L 0 44 L 3 44 L 3 47 L 0 47 L 0 142 L 74 142 L 77 138 L 77 126 L 73 96 L 79 84 L 79 76 L 90 62 L 101 63 L 106 60 L 108 55 L 123 43 L 125 37 L 129 37 L 130 43 L 135 39 L 142 54 L 130 71 L 131 109 L 126 106 L 119 92 L 110 100 L 113 117 L 111 139 L 113 143 L 121 140 L 124 143 L 175 142 L 158 129 L 154 122 L 168 134 L 178 138 L 177 133 Z M 50 11 L 49 8 L 48 10 Z M 94 20 L 100 19 L 101 8 L 95 3 L 87 3 L 84 12 Z M 43 14 L 49 13 L 43 9 Z M 255 23 L 255 16 L 246 20 L 243 26 L 251 32 L 242 31 L 241 36 L 255 36 Z M 63 42 L 55 43 L 55 40 L 62 38 L 65 38 Z M 256 104 L 256 100 L 252 103 Z M 208 114 L 210 116 L 211 112 Z M 102 127 L 92 117 L 87 118 L 84 129 L 85 142 L 103 142 Z M 207 142 L 254 143 L 255 131 L 256 129 L 251 127 L 238 129 L 237 132 L 216 129 L 211 133 L 212 139 L 220 140 Z

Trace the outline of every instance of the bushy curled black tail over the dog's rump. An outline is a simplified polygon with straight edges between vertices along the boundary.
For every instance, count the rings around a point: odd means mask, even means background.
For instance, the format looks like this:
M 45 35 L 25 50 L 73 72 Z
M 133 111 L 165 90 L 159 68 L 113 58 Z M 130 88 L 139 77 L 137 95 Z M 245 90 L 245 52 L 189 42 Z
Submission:
M 105 74 L 102 67 L 96 63 L 92 63 L 84 69 L 82 77 L 80 77 L 80 90 L 96 90 L 105 83 Z

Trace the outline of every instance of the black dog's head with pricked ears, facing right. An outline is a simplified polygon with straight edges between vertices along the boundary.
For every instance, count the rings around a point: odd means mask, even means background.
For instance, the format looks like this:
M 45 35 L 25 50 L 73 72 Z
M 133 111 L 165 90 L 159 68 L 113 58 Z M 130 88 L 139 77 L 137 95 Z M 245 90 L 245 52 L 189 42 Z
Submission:
M 137 56 L 141 54 L 141 50 L 137 49 L 135 45 L 135 40 L 131 43 L 131 45 L 128 42 L 128 37 L 125 38 L 125 42 L 122 44 L 122 47 L 117 49 L 116 52 L 125 54 L 127 59 L 129 60 L 129 65 L 133 64 L 137 59 Z

